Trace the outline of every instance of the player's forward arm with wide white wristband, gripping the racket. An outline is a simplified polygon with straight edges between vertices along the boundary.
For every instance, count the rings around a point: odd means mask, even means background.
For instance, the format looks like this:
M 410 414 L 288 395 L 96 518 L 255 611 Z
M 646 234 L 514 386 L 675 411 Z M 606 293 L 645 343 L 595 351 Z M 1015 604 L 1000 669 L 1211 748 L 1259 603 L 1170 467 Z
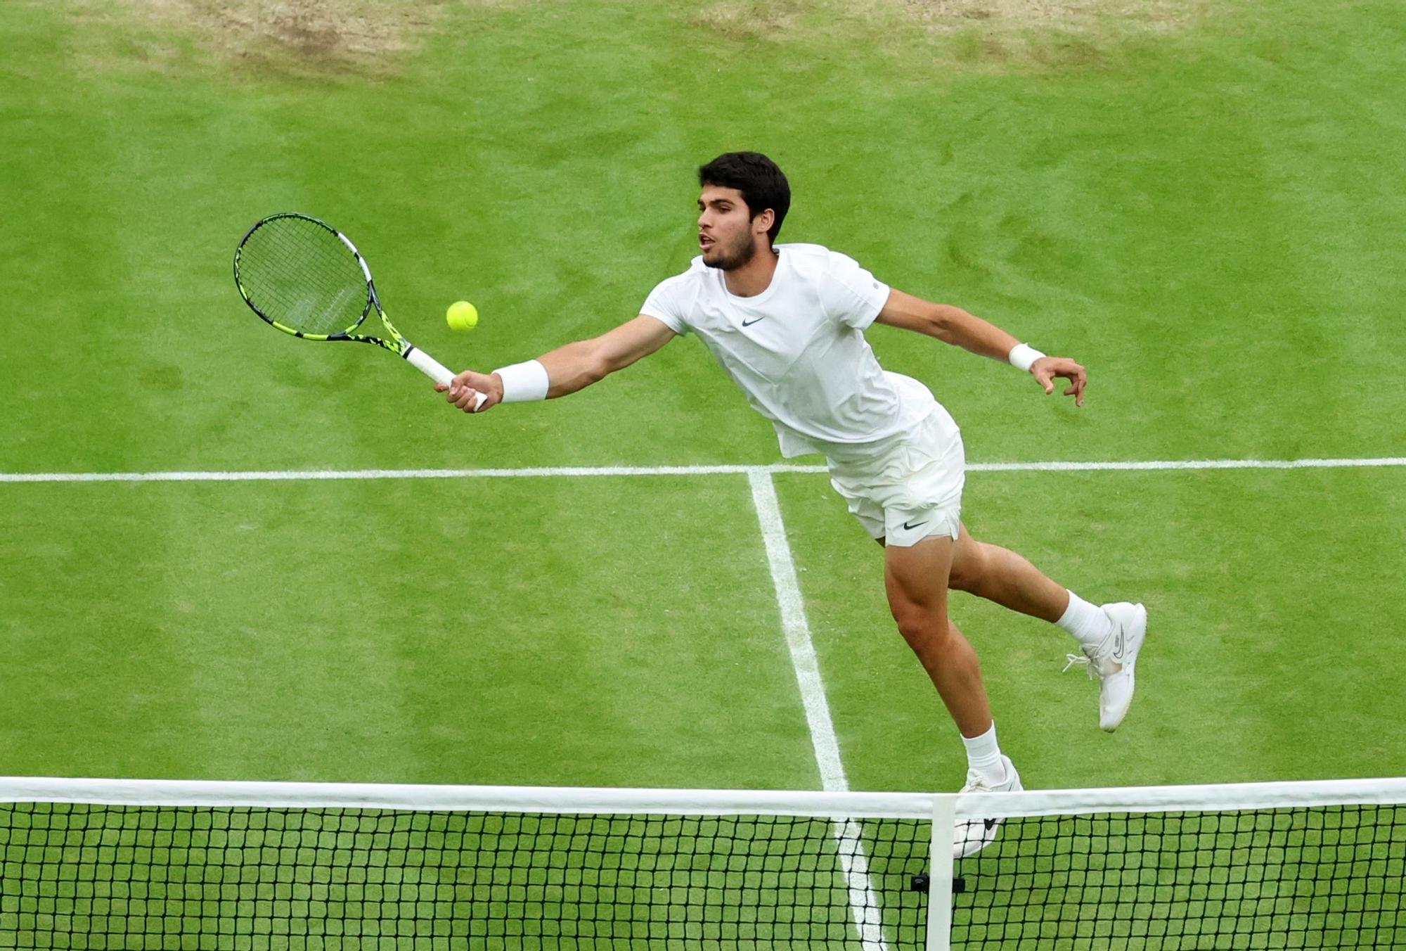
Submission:
M 650 356 L 675 336 L 664 321 L 641 314 L 598 338 L 568 343 L 527 363 L 492 373 L 464 370 L 449 385 L 436 384 L 434 391 L 464 412 L 484 412 L 499 402 L 565 397 Z M 485 400 L 475 409 L 479 392 Z

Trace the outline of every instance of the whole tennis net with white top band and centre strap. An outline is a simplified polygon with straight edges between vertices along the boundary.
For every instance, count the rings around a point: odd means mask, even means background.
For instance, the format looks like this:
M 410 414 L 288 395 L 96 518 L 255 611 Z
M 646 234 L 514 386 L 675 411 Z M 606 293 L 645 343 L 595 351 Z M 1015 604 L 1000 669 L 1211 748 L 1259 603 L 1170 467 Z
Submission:
M 1402 803 L 0 779 L 0 947 L 1406 948 Z

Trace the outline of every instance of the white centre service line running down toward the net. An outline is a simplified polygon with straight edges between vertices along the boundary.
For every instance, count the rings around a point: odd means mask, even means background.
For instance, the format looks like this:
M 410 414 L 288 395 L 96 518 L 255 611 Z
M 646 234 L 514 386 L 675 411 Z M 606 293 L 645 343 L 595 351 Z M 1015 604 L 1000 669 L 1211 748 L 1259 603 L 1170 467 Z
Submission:
M 820 782 L 825 792 L 848 792 L 849 781 L 845 779 L 845 767 L 839 761 L 839 741 L 835 739 L 835 723 L 830 719 L 830 703 L 825 702 L 825 685 L 820 679 L 815 646 L 810 640 L 810 623 L 806 620 L 806 605 L 801 601 L 800 584 L 796 581 L 790 544 L 786 543 L 786 526 L 782 523 L 782 509 L 776 502 L 776 485 L 766 470 L 748 471 L 747 481 L 752 487 L 756 519 L 762 523 L 766 564 L 772 570 L 776 604 L 782 612 L 782 630 L 786 632 L 786 646 L 790 649 L 800 699 L 806 708 L 806 723 L 810 726 L 810 743 L 815 748 Z M 832 830 L 839 847 L 839 865 L 849 888 L 849 912 L 859 931 L 859 940 L 865 951 L 889 951 L 883 937 L 879 896 L 875 893 L 873 882 L 869 881 L 869 857 L 859 837 L 859 823 L 852 819 L 837 819 Z

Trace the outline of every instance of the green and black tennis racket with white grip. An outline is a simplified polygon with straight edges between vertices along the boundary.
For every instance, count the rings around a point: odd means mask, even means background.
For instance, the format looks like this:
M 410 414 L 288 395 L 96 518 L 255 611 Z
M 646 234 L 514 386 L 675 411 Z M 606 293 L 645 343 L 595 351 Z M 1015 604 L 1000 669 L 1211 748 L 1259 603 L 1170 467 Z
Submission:
M 269 215 L 235 249 L 235 286 L 254 314 L 304 340 L 356 340 L 396 353 L 436 383 L 454 374 L 395 329 L 375 295 L 371 269 L 356 245 L 332 225 L 292 212 Z M 385 336 L 366 329 L 371 308 Z M 477 409 L 486 400 L 475 395 Z

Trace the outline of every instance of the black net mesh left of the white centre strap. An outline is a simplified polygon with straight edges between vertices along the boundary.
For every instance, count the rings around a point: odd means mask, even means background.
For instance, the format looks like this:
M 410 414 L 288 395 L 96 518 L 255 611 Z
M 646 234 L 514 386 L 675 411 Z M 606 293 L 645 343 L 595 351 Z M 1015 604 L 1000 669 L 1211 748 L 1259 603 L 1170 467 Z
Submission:
M 918 820 L 20 803 L 0 854 L 21 948 L 917 948 L 927 905 Z

